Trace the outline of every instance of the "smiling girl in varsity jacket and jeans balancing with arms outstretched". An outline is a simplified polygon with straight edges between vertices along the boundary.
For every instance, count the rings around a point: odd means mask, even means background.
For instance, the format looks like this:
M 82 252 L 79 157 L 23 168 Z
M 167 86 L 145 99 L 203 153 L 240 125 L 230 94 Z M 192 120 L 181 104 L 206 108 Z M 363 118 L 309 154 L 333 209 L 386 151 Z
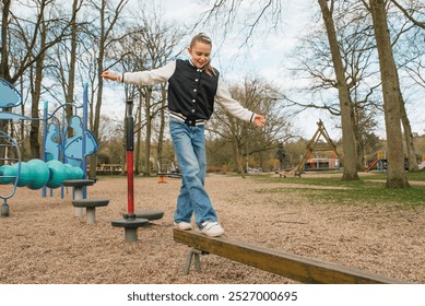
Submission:
M 181 188 L 177 198 L 174 224 L 180 229 L 192 229 L 192 214 L 197 226 L 208 236 L 224 234 L 204 188 L 206 174 L 204 123 L 220 103 L 233 116 L 262 127 L 265 119 L 244 108 L 233 99 L 211 66 L 210 37 L 196 35 L 188 48 L 189 60 L 176 60 L 151 71 L 116 74 L 103 72 L 105 80 L 153 85 L 168 81 L 169 131 L 181 172 Z

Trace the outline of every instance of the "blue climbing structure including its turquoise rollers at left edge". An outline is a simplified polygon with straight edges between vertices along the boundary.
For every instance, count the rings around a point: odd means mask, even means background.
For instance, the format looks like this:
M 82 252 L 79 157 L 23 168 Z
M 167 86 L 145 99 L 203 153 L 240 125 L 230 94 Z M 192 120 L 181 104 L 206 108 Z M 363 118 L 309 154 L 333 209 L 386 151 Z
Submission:
M 3 200 L 1 215 L 9 215 L 8 199 L 15 193 L 16 187 L 43 189 L 62 187 L 69 179 L 86 178 L 86 156 L 95 153 L 98 143 L 87 129 L 87 85 L 84 86 L 83 104 L 71 104 L 73 116 L 67 120 L 64 108 L 60 104 L 49 113 L 48 103 L 44 104 L 43 118 L 31 118 L 7 111 L 22 104 L 20 92 L 9 82 L 0 79 L 0 120 L 10 126 L 28 120 L 43 121 L 43 157 L 23 162 L 20 145 L 11 134 L 11 129 L 0 131 L 0 185 L 9 185 L 9 191 L 1 189 Z M 82 111 L 81 111 L 82 110 Z M 82 113 L 82 117 L 78 113 Z M 5 125 L 8 126 L 8 125 Z M 63 188 L 62 197 L 63 197 Z M 85 193 L 85 192 L 84 192 Z

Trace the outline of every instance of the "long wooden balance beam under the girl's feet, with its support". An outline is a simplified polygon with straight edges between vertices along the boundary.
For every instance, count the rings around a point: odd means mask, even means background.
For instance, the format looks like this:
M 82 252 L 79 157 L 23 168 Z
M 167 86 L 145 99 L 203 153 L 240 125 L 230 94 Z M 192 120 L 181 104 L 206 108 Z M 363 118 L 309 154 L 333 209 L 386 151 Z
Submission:
M 302 283 L 322 284 L 401 284 L 408 283 L 375 273 L 368 273 L 342 266 L 271 250 L 226 237 L 209 237 L 199 231 L 174 229 L 174 240 L 192 247 L 185 272 L 189 273 L 194 256 L 200 272 L 199 255 L 214 254 L 247 266 L 258 268 Z

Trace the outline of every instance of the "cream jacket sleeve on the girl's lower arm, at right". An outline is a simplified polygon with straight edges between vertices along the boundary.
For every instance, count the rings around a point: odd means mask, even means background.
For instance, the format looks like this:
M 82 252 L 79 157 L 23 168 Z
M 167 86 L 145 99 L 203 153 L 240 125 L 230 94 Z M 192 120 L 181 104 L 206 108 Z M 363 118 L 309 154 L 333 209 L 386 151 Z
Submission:
M 215 101 L 236 118 L 244 121 L 253 122 L 256 114 L 241 106 L 239 102 L 232 97 L 222 79 L 219 79 Z

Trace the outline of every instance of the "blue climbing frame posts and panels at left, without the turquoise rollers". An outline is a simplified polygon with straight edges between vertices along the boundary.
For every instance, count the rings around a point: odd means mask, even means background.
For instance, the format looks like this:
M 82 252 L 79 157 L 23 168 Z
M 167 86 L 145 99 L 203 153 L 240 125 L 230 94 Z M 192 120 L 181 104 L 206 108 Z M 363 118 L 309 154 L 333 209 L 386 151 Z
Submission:
M 43 120 L 43 161 L 49 162 L 51 160 L 60 161 L 64 164 L 78 166 L 83 170 L 83 178 L 87 177 L 87 162 L 86 157 L 95 153 L 98 149 L 98 143 L 93 133 L 87 129 L 87 109 L 88 109 L 88 85 L 84 84 L 83 89 L 83 104 L 81 106 L 72 103 L 72 109 L 74 115 L 71 117 L 70 122 L 66 120 L 64 108 L 67 104 L 61 104 L 51 114 L 48 111 L 48 103 L 44 104 L 44 116 L 42 119 L 25 117 L 20 114 L 4 111 L 4 108 L 13 108 L 22 104 L 22 95 L 20 92 L 9 82 L 0 78 L 0 120 L 11 120 L 19 122 L 23 120 Z M 82 108 L 82 118 L 76 115 L 78 110 Z M 58 125 L 54 121 L 59 110 L 62 110 L 62 125 Z M 72 128 L 73 134 L 68 137 L 69 128 Z M 3 144 L 5 143 L 5 144 Z M 10 149 L 16 151 L 17 158 L 7 158 L 0 156 L 2 164 L 13 164 L 21 162 L 21 152 L 15 139 L 8 136 L 5 132 L 0 131 L 0 145 L 9 145 Z M 19 175 L 21 170 L 17 170 L 17 175 L 10 179 L 13 184 L 12 191 L 5 196 L 0 195 L 0 198 L 4 200 L 13 197 L 15 188 L 19 181 Z M 1 178 L 1 177 L 0 177 Z M 43 197 L 46 197 L 47 187 L 43 187 Z M 51 192 L 51 189 L 50 189 Z M 61 197 L 63 197 L 63 186 L 61 187 Z M 86 190 L 83 191 L 83 197 L 86 197 Z

